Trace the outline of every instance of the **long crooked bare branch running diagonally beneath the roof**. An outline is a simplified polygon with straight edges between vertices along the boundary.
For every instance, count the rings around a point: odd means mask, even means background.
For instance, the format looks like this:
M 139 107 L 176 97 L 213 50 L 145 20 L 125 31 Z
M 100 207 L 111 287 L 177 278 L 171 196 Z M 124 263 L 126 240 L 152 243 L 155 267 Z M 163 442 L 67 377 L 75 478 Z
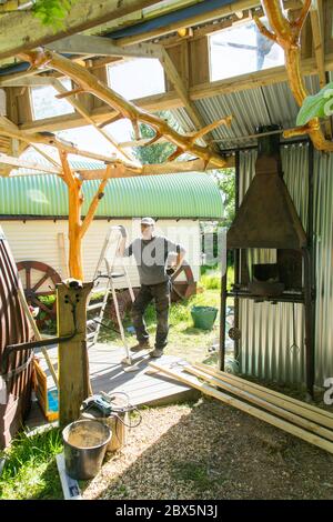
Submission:
M 154 114 L 150 114 L 147 111 L 142 111 L 137 106 L 134 106 L 134 103 L 125 100 L 119 93 L 110 89 L 105 83 L 97 80 L 93 74 L 91 74 L 78 63 L 72 63 L 64 57 L 61 57 L 51 51 L 43 51 L 42 49 L 21 54 L 20 57 L 29 60 L 32 67 L 47 67 L 54 69 L 71 78 L 83 91 L 94 94 L 100 100 L 104 101 L 108 106 L 111 106 L 123 118 L 128 118 L 132 122 L 142 122 L 149 124 L 152 129 L 154 129 L 157 138 L 164 135 L 170 142 L 176 145 L 176 150 L 170 160 L 175 159 L 178 155 L 184 152 L 189 152 L 198 158 L 203 159 L 206 164 L 212 162 L 216 168 L 224 167 L 225 163 L 219 153 L 212 151 L 208 147 L 201 147 L 196 144 L 193 137 L 189 138 L 186 135 L 180 134 L 163 119 Z M 225 120 L 225 123 L 230 124 L 230 119 Z M 220 124 L 222 124 L 222 120 L 220 121 Z

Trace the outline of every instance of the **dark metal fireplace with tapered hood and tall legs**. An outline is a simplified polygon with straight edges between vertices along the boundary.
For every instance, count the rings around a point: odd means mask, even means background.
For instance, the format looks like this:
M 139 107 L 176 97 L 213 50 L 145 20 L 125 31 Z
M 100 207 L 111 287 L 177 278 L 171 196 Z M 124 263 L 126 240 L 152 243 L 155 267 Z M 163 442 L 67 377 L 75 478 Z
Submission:
M 273 133 L 271 133 L 273 131 Z M 221 290 L 220 368 L 224 368 L 226 299 L 255 302 L 303 303 L 305 307 L 306 388 L 313 393 L 313 281 L 311 251 L 307 237 L 295 205 L 283 180 L 280 155 L 280 135 L 274 128 L 261 128 L 258 138 L 255 175 L 236 211 L 226 234 L 226 248 L 233 250 L 235 281 L 226 291 L 226 275 Z M 307 172 L 304 172 L 304 177 Z M 265 260 L 262 252 L 265 249 Z M 258 260 L 260 259 L 260 261 Z M 255 319 L 254 319 L 255 320 Z M 235 343 L 241 339 L 235 311 L 235 328 L 230 335 Z

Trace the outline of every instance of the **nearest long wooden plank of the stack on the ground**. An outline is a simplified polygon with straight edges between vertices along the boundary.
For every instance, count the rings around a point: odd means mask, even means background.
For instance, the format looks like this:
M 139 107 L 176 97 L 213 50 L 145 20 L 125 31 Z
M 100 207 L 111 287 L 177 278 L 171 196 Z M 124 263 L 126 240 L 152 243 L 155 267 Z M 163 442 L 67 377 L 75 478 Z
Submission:
M 209 396 L 213 396 L 214 399 L 218 399 L 219 401 L 224 402 L 225 404 L 234 406 L 238 410 L 241 410 L 261 421 L 264 421 L 294 436 L 297 436 L 299 439 L 302 439 L 303 441 L 309 442 L 310 444 L 316 445 L 317 448 L 321 448 L 322 450 L 325 450 L 329 453 L 333 453 L 333 443 L 325 439 L 322 439 L 319 435 L 310 433 L 303 430 L 302 428 L 299 428 L 287 421 L 279 419 L 278 416 L 274 416 L 271 413 L 259 410 L 258 408 L 254 408 L 243 401 L 240 401 L 239 399 L 230 396 L 226 393 L 220 392 L 214 388 L 210 387 L 209 384 L 202 384 L 198 380 L 194 381 L 193 379 L 186 378 L 183 374 L 176 373 L 167 367 L 161 367 L 155 363 L 150 363 L 150 365 L 151 368 L 159 370 L 162 373 L 165 373 L 167 375 L 173 377 L 174 379 L 179 379 L 181 382 L 195 388 L 196 390 L 201 391 L 202 393 Z

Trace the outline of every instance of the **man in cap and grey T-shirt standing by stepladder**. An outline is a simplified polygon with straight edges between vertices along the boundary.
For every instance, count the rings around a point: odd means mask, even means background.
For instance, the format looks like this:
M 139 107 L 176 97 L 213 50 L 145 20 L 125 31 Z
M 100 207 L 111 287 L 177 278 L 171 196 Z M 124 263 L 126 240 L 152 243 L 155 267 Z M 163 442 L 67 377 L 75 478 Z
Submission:
M 132 318 L 135 328 L 138 344 L 132 351 L 150 349 L 149 333 L 144 322 L 144 312 L 149 303 L 154 300 L 158 328 L 154 350 L 151 358 L 160 358 L 168 343 L 169 308 L 170 308 L 170 277 L 182 264 L 185 250 L 163 235 L 155 235 L 155 222 L 152 218 L 141 220 L 141 238 L 137 238 L 125 248 L 127 232 L 122 230 L 122 240 L 119 245 L 119 255 L 134 255 L 140 277 L 141 288 L 133 303 Z M 176 253 L 171 268 L 167 270 L 169 254 Z

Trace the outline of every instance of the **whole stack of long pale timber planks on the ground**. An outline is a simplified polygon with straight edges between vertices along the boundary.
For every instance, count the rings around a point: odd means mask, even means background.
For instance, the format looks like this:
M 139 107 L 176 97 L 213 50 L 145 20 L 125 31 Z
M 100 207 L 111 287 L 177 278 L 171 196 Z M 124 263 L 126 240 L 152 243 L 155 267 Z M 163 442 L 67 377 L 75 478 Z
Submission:
M 153 362 L 150 367 L 333 453 L 333 414 L 325 410 L 206 364 L 189 364 L 181 372 Z

